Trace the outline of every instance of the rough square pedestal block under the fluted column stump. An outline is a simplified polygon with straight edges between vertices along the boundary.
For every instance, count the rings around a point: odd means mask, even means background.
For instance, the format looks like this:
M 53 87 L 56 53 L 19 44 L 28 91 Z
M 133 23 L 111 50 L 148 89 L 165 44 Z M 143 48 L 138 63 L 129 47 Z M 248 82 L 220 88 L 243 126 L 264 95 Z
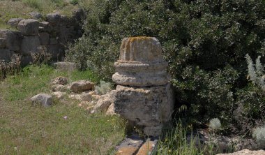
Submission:
M 146 135 L 160 135 L 162 124 L 171 119 L 173 103 L 170 84 L 156 87 L 118 85 L 114 90 L 115 112 L 143 126 Z

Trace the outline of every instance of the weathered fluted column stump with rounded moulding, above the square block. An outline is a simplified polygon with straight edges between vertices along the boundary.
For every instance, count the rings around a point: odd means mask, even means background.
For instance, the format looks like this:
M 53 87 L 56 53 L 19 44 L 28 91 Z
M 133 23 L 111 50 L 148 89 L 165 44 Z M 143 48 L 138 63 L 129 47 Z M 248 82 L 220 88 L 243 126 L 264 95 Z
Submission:
M 153 37 L 124 38 L 119 60 L 114 64 L 116 84 L 147 87 L 167 84 L 167 62 L 162 59 L 162 47 Z

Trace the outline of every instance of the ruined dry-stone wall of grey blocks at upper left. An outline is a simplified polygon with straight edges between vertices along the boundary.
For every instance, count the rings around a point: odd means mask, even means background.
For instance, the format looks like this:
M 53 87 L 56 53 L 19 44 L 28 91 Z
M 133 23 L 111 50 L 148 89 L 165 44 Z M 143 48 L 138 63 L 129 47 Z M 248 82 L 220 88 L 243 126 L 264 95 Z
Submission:
M 84 10 L 73 10 L 66 17 L 60 13 L 50 13 L 45 21 L 39 13 L 31 13 L 34 19 L 13 18 L 8 21 L 17 29 L 0 29 L 0 61 L 10 61 L 13 54 L 21 56 L 22 66 L 33 61 L 33 54 L 49 53 L 53 61 L 61 61 L 68 43 L 82 36 Z

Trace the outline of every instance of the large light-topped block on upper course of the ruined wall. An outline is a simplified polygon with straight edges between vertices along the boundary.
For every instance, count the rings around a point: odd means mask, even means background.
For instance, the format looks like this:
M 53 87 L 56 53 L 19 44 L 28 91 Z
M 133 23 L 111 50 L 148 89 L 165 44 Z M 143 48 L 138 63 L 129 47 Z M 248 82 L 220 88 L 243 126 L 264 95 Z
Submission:
M 39 26 L 40 23 L 38 22 L 38 20 L 27 19 L 21 20 L 17 25 L 17 29 L 21 31 L 21 33 L 25 36 L 36 36 L 38 35 Z

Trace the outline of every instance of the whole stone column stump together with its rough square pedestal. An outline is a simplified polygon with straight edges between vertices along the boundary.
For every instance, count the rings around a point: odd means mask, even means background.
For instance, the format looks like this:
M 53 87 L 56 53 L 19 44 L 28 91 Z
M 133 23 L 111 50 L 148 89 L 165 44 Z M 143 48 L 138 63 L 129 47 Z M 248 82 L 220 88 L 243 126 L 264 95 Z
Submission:
M 153 37 L 124 38 L 114 66 L 115 112 L 142 126 L 146 135 L 160 135 L 163 124 L 171 119 L 173 95 L 159 41 Z

